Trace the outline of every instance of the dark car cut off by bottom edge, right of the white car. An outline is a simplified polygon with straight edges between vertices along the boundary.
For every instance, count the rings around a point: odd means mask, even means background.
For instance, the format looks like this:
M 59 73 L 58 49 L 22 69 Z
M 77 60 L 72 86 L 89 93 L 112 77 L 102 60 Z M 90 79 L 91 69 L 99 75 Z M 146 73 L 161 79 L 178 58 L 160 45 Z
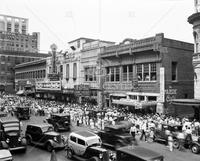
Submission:
M 163 155 L 139 146 L 125 146 L 117 149 L 117 161 L 164 161 Z

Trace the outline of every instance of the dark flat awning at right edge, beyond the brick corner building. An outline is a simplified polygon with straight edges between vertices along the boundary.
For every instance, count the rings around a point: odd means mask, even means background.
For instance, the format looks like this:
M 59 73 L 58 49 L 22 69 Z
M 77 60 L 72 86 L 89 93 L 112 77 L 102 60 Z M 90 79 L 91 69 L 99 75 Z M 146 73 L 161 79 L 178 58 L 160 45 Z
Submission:
M 199 99 L 173 99 L 172 104 L 186 105 L 186 106 L 200 106 L 200 100 Z

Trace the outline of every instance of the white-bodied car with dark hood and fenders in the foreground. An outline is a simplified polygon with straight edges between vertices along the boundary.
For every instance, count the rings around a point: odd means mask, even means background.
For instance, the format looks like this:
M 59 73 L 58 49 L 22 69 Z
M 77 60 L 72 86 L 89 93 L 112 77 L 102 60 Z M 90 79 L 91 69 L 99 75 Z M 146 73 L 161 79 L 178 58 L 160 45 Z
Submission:
M 89 131 L 76 131 L 69 135 L 67 157 L 81 161 L 109 161 L 109 152 L 101 147 L 98 135 Z

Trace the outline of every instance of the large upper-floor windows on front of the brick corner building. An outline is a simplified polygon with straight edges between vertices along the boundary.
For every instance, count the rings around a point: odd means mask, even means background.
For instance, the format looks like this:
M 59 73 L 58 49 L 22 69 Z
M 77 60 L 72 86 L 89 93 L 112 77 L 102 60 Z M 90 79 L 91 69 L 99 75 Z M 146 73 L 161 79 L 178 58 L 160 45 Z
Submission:
M 136 76 L 138 81 L 156 81 L 156 63 L 145 63 L 136 65 Z M 106 68 L 106 81 L 132 81 L 134 79 L 134 65 L 123 65 Z

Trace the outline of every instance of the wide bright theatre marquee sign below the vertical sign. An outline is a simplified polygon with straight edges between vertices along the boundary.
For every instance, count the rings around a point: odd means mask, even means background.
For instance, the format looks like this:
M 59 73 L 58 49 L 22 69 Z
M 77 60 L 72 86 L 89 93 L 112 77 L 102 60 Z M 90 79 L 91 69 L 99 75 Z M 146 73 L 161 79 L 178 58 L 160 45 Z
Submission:
M 61 90 L 60 81 L 51 81 L 51 82 L 36 82 L 36 90 L 52 90 L 58 91 Z

